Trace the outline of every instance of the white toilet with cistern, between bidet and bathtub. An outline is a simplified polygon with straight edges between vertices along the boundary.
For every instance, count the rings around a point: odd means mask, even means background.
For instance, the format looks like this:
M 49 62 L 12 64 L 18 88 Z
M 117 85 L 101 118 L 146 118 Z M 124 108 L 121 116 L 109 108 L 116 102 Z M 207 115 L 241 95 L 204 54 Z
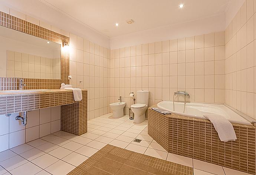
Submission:
M 137 103 L 131 105 L 131 110 L 134 113 L 134 123 L 141 123 L 145 121 L 145 112 L 148 109 L 148 99 L 149 91 L 137 91 Z

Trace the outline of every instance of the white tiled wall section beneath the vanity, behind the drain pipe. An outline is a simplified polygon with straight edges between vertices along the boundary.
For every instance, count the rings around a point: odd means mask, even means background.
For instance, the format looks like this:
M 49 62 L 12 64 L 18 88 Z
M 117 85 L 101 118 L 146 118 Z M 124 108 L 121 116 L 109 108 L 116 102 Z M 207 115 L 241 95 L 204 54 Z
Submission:
M 0 115 L 0 152 L 60 131 L 60 106 L 27 112 L 26 126 L 15 120 L 18 115 L 23 113 Z

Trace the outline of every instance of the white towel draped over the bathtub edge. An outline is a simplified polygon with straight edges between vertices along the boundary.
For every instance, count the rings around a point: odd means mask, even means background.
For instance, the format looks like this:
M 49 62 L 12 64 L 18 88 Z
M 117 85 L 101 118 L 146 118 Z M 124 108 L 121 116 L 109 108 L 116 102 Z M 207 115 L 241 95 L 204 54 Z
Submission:
M 213 126 L 217 131 L 221 141 L 227 142 L 235 141 L 237 139 L 233 125 L 229 122 L 229 120 L 224 118 L 224 116 L 213 113 L 207 113 L 204 115 L 204 117 L 210 120 L 211 123 L 213 123 Z

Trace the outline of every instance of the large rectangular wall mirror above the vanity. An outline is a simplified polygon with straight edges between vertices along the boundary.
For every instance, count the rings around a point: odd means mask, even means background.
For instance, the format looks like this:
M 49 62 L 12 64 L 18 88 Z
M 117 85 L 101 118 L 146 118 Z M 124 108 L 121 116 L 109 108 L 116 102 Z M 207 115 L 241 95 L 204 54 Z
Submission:
M 60 79 L 61 45 L 0 26 L 0 77 Z

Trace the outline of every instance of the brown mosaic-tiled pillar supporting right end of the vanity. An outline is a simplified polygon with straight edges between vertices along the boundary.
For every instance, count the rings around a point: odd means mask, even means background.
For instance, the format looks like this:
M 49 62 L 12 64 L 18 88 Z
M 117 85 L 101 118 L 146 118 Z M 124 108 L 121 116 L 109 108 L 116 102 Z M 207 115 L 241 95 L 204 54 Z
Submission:
M 61 106 L 61 131 L 79 136 L 87 132 L 87 93 L 87 90 L 82 90 L 81 102 Z

